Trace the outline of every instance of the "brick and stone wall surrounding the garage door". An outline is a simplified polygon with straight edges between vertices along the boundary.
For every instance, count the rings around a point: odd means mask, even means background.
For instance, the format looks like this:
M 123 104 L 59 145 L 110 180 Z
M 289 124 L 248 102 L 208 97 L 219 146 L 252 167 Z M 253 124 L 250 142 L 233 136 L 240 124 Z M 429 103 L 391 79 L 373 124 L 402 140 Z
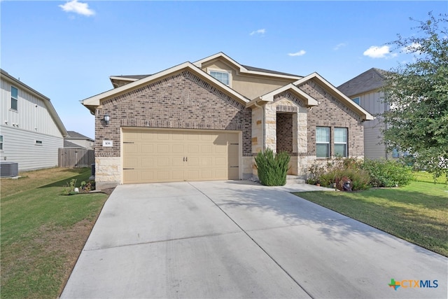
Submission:
M 111 116 L 109 125 L 102 118 Z M 242 131 L 243 171 L 252 159 L 252 111 L 189 71 L 180 71 L 102 102 L 95 116 L 97 182 L 120 183 L 120 127 L 165 127 Z M 103 147 L 103 140 L 113 146 Z M 248 157 L 249 159 L 244 159 Z M 116 159 L 118 158 L 118 159 Z M 118 172 L 106 171 L 106 165 Z M 249 174 L 251 171 L 249 170 Z M 244 174 L 247 176 L 247 174 Z

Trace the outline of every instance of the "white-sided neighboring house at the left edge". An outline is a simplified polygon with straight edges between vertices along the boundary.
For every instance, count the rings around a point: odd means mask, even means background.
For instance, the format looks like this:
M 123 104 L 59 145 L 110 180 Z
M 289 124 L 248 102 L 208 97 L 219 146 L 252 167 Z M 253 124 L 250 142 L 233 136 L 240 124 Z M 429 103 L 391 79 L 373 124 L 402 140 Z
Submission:
M 19 171 L 57 166 L 67 131 L 50 99 L 1 71 L 1 161 Z

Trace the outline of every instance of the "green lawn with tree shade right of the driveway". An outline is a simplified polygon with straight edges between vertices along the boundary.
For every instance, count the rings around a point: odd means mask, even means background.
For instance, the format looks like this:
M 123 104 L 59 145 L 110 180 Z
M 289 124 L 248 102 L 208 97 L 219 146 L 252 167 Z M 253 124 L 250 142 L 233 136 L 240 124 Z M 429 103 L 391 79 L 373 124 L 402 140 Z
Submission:
M 423 172 L 416 179 L 401 188 L 295 195 L 448 256 L 448 185 Z

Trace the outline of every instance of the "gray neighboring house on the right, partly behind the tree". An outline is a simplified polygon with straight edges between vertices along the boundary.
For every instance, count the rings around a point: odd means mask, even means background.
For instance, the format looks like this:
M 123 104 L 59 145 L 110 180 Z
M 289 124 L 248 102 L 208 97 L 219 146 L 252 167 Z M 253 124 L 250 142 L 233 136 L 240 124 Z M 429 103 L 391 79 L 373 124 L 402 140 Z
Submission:
M 386 74 L 387 71 L 383 69 L 372 68 L 346 81 L 337 89 L 372 115 L 381 114 L 390 109 L 390 106 L 383 102 L 384 92 L 381 91 Z M 384 129 L 385 125 L 381 122 L 381 116 L 377 116 L 363 125 L 364 157 L 369 159 L 396 158 L 393 153 L 386 150 L 381 134 L 381 129 Z

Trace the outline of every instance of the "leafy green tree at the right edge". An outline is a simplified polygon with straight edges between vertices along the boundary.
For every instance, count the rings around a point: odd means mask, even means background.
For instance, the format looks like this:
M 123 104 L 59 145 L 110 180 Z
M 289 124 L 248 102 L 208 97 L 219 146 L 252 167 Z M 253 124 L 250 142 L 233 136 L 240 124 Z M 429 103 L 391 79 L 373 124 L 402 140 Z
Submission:
M 416 21 L 423 36 L 392 41 L 414 60 L 386 76 L 384 141 L 389 150 L 409 151 L 415 162 L 435 177 L 448 175 L 448 30 L 447 14 Z M 448 179 L 448 177 L 447 177 Z

